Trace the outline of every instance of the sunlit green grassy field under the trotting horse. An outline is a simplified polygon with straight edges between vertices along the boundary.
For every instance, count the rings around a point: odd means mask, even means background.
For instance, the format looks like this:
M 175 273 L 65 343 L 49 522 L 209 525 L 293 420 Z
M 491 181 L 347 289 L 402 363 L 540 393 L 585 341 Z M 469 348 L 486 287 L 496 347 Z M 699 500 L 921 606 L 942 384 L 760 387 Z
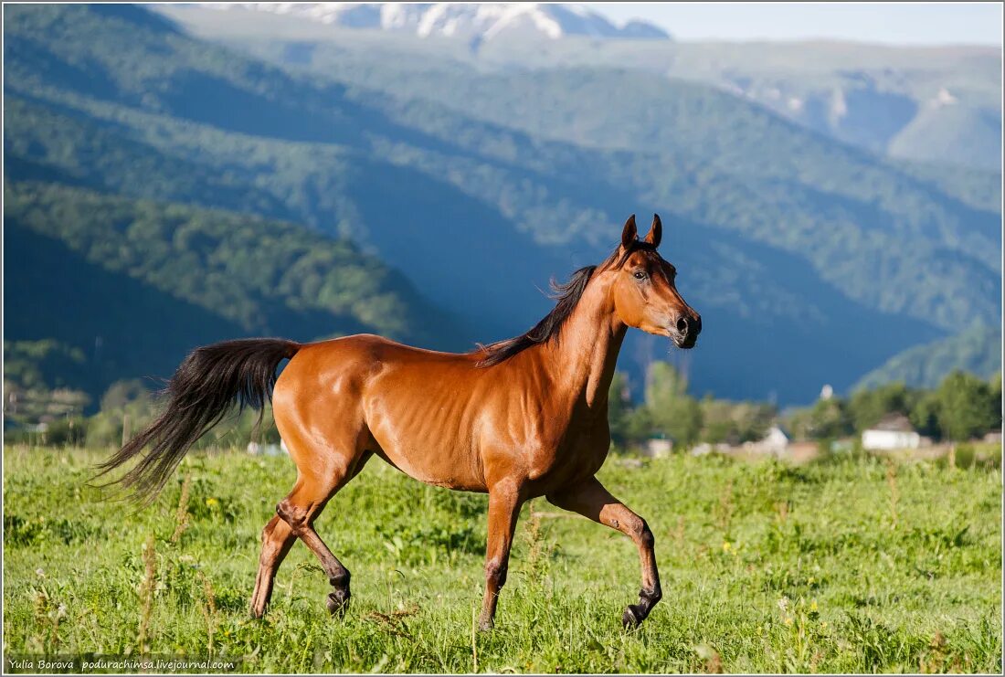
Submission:
M 481 634 L 483 496 L 372 461 L 318 521 L 353 573 L 346 618 L 328 616 L 327 581 L 297 543 L 252 621 L 258 534 L 292 483 L 288 459 L 195 455 L 134 513 L 84 486 L 98 457 L 6 450 L 5 655 L 213 655 L 249 672 L 1002 668 L 996 468 L 612 457 L 601 480 L 652 527 L 663 602 L 623 631 L 634 546 L 537 499 Z

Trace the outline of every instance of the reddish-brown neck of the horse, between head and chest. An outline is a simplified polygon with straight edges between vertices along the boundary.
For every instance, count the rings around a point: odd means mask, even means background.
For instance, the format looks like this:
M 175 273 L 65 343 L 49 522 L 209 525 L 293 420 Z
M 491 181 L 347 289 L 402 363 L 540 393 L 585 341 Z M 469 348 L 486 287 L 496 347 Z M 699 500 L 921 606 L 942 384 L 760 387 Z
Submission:
M 578 401 L 585 397 L 594 410 L 607 404 L 607 391 L 626 326 L 616 318 L 614 304 L 604 284 L 591 284 L 562 327 L 558 342 L 547 350 L 555 395 Z

